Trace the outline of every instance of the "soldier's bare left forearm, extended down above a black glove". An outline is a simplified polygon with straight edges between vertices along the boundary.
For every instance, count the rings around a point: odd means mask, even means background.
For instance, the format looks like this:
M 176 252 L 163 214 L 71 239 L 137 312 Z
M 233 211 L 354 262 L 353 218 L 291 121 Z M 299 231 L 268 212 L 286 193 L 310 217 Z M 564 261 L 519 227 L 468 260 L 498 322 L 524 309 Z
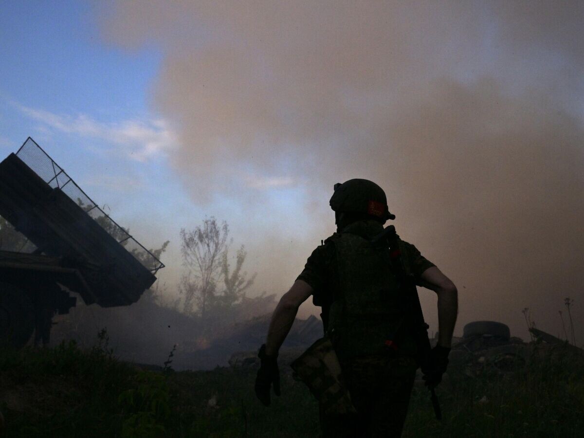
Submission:
M 294 318 L 298 312 L 300 304 L 304 303 L 312 294 L 312 286 L 303 280 L 296 280 L 280 302 L 270 321 L 270 328 L 267 331 L 266 354 L 273 356 L 278 353 L 280 346 L 288 335 Z

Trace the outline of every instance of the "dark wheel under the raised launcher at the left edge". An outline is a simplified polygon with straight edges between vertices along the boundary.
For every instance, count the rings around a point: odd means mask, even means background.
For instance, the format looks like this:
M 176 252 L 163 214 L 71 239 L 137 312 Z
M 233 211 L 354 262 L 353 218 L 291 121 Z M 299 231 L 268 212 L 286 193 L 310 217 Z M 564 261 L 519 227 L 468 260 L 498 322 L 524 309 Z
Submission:
M 26 345 L 34 331 L 34 308 L 26 291 L 0 282 L 0 342 Z

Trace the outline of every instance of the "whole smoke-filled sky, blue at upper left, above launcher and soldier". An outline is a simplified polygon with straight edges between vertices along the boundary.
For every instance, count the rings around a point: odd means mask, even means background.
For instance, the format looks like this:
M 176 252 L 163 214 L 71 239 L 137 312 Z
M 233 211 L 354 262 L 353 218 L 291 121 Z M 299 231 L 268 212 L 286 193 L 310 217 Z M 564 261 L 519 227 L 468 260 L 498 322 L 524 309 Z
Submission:
M 582 2 L 0 2 L 0 155 L 30 135 L 147 247 L 214 215 L 283 294 L 382 186 L 457 285 L 456 335 L 522 310 L 584 342 Z M 436 297 L 420 290 L 431 329 Z M 301 314 L 318 314 L 310 303 Z

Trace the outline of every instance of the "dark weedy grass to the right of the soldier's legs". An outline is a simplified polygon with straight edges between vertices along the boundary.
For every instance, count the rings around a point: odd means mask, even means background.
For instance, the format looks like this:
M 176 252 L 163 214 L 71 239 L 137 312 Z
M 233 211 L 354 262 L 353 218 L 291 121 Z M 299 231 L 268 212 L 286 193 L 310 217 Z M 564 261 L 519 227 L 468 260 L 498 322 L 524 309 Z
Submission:
M 536 346 L 510 365 L 502 373 L 487 363 L 474 377 L 465 366 L 450 370 L 450 384 L 439 387 L 442 423 L 424 408 L 427 391 L 415 390 L 404 437 L 584 436 L 582 355 Z

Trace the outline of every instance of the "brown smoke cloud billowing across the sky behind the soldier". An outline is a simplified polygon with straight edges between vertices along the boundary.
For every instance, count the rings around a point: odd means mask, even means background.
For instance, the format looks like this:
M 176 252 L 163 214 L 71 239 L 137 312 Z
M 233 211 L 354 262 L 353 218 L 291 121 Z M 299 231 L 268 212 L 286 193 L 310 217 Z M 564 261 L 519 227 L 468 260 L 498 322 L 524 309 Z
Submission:
M 151 93 L 178 127 L 171 163 L 195 203 L 232 200 L 249 219 L 258 280 L 283 291 L 333 230 L 333 183 L 369 178 L 402 238 L 457 284 L 457 333 L 495 319 L 525 337 L 530 307 L 557 335 L 566 296 L 584 312 L 582 2 L 161 0 L 100 13 L 110 43 L 164 54 Z M 297 211 L 285 190 L 303 195 Z M 254 228 L 267 215 L 296 240 Z

